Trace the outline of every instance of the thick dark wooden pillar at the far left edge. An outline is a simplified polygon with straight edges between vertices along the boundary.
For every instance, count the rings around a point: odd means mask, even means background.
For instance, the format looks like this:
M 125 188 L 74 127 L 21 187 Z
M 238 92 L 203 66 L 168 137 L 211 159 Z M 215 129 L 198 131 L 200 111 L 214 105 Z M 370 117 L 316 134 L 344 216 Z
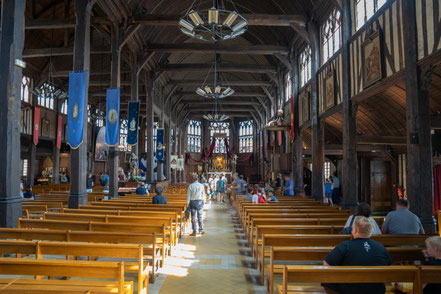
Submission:
M 0 227 L 17 227 L 21 217 L 20 89 L 26 1 L 3 1 L 0 33 Z

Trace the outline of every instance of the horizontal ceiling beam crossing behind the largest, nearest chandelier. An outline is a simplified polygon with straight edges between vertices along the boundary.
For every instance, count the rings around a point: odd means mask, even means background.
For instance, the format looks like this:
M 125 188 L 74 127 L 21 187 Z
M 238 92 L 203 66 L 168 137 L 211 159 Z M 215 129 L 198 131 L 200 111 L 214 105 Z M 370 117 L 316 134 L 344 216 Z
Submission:
M 289 27 L 293 23 L 305 25 L 308 21 L 304 15 L 281 14 L 242 14 L 249 26 Z M 131 23 L 140 23 L 148 26 L 177 26 L 182 15 L 148 14 L 129 19 Z

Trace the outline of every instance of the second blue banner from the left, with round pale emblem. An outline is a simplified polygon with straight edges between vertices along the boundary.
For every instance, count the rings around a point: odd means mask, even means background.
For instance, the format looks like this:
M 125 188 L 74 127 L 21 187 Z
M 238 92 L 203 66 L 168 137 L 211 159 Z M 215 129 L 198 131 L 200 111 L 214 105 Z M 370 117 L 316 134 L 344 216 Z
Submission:
M 119 143 L 119 96 L 120 89 L 107 89 L 106 144 L 110 147 Z

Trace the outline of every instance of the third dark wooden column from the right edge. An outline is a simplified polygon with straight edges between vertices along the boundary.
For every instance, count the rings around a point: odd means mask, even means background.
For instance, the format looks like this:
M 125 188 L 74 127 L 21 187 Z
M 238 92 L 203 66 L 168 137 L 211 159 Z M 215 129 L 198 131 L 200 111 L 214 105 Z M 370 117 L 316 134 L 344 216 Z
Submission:
M 308 34 L 311 40 L 311 128 L 312 128 L 312 187 L 311 196 L 323 201 L 323 165 L 324 138 L 323 123 L 319 118 L 319 96 L 317 71 L 320 65 L 320 35 L 319 26 L 315 21 L 308 23 Z

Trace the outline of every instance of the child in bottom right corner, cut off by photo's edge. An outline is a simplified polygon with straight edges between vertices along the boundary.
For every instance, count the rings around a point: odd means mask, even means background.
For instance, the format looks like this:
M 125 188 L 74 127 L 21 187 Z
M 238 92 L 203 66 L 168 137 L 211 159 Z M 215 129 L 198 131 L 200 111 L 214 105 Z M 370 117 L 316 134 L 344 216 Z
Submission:
M 441 237 L 433 236 L 426 239 L 427 250 L 423 250 L 424 257 L 427 258 L 424 265 L 441 266 Z M 441 279 L 440 279 L 441 281 Z M 403 291 L 403 283 L 396 283 L 395 289 Z M 424 284 L 423 294 L 441 293 L 441 284 Z

